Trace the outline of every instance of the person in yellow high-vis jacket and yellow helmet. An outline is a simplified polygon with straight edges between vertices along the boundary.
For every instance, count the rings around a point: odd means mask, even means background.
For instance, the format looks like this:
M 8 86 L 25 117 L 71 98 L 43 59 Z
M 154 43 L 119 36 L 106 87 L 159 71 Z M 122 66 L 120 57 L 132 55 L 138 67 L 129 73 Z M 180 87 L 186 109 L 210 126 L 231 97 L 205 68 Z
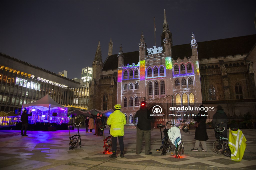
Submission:
M 124 157 L 124 125 L 126 124 L 125 115 L 121 112 L 121 105 L 116 104 L 115 111 L 109 115 L 107 125 L 110 126 L 110 135 L 112 136 L 112 151 L 110 158 L 116 158 L 116 141 L 118 138 L 120 146 L 120 157 Z

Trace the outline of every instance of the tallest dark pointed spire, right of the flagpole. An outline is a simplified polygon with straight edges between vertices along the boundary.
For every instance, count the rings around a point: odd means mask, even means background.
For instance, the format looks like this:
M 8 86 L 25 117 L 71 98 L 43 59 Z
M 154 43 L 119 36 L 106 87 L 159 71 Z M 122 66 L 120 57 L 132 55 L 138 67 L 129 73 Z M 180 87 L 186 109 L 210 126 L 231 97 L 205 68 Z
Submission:
M 168 55 L 171 55 L 171 48 L 173 46 L 173 38 L 172 33 L 169 31 L 169 25 L 166 19 L 166 12 L 164 10 L 164 24 L 163 24 L 163 32 L 161 34 L 161 45 L 163 46 L 163 51 L 169 53 Z M 165 48 L 165 45 L 167 41 L 170 43 L 168 49 Z M 165 50 L 166 49 L 166 50 Z

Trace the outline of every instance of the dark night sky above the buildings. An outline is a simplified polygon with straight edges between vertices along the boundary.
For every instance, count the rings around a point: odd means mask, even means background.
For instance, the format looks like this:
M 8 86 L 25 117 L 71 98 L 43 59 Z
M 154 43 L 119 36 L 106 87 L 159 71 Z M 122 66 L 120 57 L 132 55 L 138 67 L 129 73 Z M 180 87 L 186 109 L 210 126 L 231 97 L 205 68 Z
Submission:
M 80 78 L 100 40 L 103 62 L 113 54 L 160 46 L 166 10 L 173 45 L 255 34 L 256 1 L 0 1 L 0 52 Z M 1 61 L 0 61 L 1 62 Z M 127 64 L 127 63 L 125 63 Z M 132 63 L 130 63 L 132 64 Z M 31 73 L 33 74 L 33 73 Z

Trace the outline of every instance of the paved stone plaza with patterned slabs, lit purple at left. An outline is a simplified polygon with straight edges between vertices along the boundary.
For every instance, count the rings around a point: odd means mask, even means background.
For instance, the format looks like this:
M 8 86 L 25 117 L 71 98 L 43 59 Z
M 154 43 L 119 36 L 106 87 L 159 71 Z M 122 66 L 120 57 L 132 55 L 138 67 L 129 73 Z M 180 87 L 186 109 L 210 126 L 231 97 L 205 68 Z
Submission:
M 105 130 L 108 133 L 108 129 Z M 124 158 L 109 158 L 103 152 L 103 137 L 86 133 L 80 128 L 82 147 L 69 150 L 68 130 L 28 131 L 29 137 L 22 137 L 19 130 L 0 131 L 0 170 L 1 169 L 256 169 L 256 130 L 242 129 L 247 147 L 241 162 L 231 161 L 229 157 L 213 151 L 216 141 L 213 129 L 207 129 L 208 152 L 190 151 L 194 147 L 195 130 L 191 134 L 182 132 L 185 152 L 180 159 L 170 152 L 161 156 L 160 130 L 151 133 L 152 155 L 145 155 L 144 150 L 136 154 L 136 129 L 125 129 Z M 76 134 L 76 130 L 71 130 Z M 144 143 L 143 143 L 144 144 Z M 144 149 L 144 148 L 143 148 Z M 172 151 L 174 146 L 172 145 Z

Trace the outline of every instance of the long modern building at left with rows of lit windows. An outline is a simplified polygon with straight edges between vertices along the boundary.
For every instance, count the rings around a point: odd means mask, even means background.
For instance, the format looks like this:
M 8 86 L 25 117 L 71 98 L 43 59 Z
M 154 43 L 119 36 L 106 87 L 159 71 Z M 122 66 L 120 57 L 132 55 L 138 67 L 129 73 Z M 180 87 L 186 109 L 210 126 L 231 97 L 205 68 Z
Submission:
M 89 87 L 0 53 L 0 107 L 14 111 L 48 94 L 61 105 L 87 107 Z

